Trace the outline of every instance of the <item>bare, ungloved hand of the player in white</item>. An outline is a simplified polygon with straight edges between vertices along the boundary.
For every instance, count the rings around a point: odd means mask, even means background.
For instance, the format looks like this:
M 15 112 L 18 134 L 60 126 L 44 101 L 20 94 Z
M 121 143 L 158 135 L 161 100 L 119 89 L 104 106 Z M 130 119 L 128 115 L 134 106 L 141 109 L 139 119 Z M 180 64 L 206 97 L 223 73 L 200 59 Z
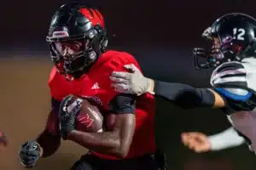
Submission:
M 210 140 L 204 133 L 182 133 L 181 137 L 183 144 L 197 153 L 207 152 L 212 148 Z

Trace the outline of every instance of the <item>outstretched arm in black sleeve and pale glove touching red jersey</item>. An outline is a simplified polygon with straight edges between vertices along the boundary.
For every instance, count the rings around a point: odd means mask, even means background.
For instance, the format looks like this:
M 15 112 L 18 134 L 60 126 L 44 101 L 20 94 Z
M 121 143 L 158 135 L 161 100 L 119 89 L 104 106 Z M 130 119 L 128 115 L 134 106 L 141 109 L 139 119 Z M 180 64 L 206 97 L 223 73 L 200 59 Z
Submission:
M 116 91 L 141 95 L 150 93 L 172 101 L 183 109 L 199 106 L 224 107 L 224 98 L 207 88 L 193 88 L 183 83 L 160 82 L 147 77 L 134 65 L 125 65 L 130 72 L 113 72 L 110 79 Z

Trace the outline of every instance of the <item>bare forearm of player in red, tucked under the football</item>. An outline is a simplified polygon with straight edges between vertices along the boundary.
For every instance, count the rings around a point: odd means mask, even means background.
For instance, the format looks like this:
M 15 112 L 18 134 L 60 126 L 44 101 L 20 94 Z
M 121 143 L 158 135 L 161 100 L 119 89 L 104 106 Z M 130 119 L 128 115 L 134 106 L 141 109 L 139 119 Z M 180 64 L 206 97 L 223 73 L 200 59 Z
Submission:
M 84 133 L 74 130 L 67 139 L 84 146 L 84 148 L 109 156 L 124 157 L 127 153 L 122 150 L 119 131 L 103 133 Z

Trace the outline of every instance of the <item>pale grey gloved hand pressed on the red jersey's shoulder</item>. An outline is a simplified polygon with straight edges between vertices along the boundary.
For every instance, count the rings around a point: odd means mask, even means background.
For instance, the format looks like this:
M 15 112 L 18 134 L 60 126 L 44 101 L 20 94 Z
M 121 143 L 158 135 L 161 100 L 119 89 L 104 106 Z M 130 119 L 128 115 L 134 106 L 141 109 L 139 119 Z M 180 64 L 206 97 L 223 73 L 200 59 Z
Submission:
M 113 88 L 120 93 L 141 95 L 151 91 L 152 80 L 144 77 L 135 65 L 124 66 L 130 72 L 113 71 L 110 80 Z

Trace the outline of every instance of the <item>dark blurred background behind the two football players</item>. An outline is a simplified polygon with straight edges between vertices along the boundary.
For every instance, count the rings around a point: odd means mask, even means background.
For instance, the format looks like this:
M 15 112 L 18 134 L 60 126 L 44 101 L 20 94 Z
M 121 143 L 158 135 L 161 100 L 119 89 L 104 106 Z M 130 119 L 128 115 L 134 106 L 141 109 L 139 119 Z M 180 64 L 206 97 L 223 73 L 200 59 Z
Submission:
M 47 79 L 52 63 L 45 36 L 55 10 L 69 1 L 2 0 L 0 2 L 0 129 L 9 147 L 0 154 L 1 170 L 20 170 L 18 150 L 44 128 L 49 111 Z M 81 1 L 83 2 L 83 1 Z M 86 2 L 86 1 L 84 1 Z M 162 81 L 208 87 L 210 71 L 195 71 L 191 49 L 204 46 L 202 31 L 219 16 L 242 12 L 256 17 L 253 0 L 93 0 L 105 16 L 109 48 L 133 54 L 144 74 Z M 255 156 L 242 145 L 229 150 L 195 154 L 180 143 L 180 133 L 213 134 L 230 124 L 221 111 L 182 111 L 158 99 L 156 140 L 175 170 L 251 170 Z M 147 141 L 145 141 L 147 142 Z M 68 170 L 84 149 L 63 142 L 54 156 L 34 169 Z

